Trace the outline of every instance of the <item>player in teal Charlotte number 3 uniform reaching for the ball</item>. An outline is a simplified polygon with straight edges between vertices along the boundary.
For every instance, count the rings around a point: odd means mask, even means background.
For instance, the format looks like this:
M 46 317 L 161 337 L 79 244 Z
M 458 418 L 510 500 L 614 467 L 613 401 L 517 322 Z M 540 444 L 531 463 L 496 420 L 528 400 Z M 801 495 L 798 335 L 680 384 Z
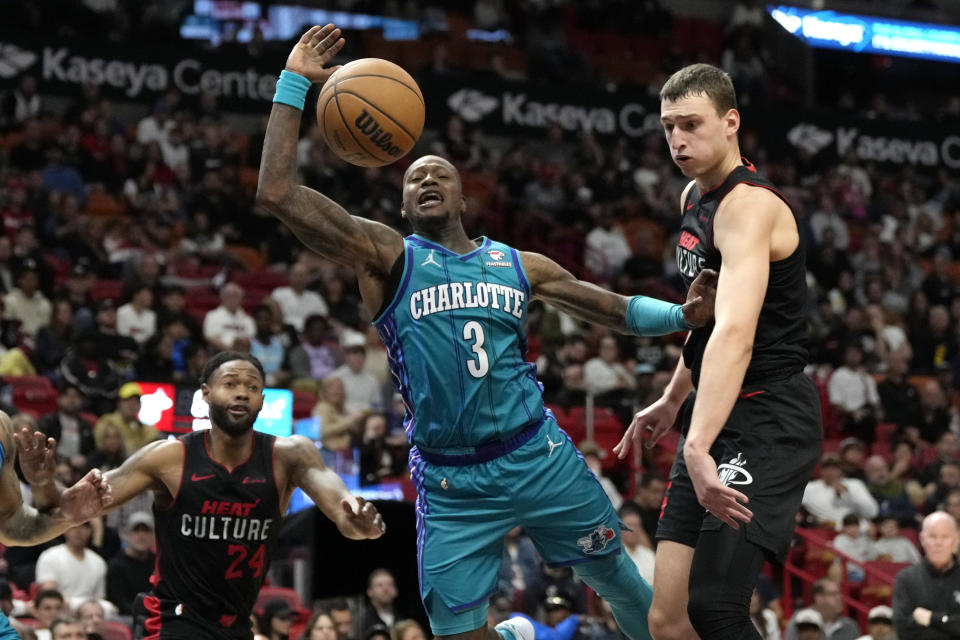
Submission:
M 596 478 L 544 409 L 526 361 L 527 303 L 538 297 L 622 332 L 666 334 L 712 313 L 706 274 L 687 304 L 625 298 L 576 280 L 552 260 L 463 229 L 460 176 L 424 156 L 407 169 L 400 210 L 406 238 L 349 215 L 296 184 L 306 90 L 335 70 L 332 25 L 294 47 L 277 85 L 260 166 L 258 203 L 317 253 L 356 270 L 363 302 L 386 344 L 414 445 L 421 597 L 437 636 L 531 640 L 529 622 L 487 628 L 504 535 L 521 524 L 544 560 L 572 565 L 610 602 L 631 638 L 649 638 L 651 589 L 621 552 L 620 523 Z

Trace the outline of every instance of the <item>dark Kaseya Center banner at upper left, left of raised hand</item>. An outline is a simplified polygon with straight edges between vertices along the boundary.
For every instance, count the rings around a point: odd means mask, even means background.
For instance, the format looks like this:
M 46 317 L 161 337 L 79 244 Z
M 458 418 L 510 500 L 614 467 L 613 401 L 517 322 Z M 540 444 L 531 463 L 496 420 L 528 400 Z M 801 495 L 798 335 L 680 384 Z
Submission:
M 43 93 L 78 95 L 83 85 L 93 84 L 111 98 L 149 103 L 177 89 L 188 100 L 213 93 L 224 109 L 266 111 L 282 67 L 282 59 L 269 55 L 204 52 L 188 43 L 139 49 L 58 39 L 39 43 L 0 32 L 0 89 L 29 74 Z

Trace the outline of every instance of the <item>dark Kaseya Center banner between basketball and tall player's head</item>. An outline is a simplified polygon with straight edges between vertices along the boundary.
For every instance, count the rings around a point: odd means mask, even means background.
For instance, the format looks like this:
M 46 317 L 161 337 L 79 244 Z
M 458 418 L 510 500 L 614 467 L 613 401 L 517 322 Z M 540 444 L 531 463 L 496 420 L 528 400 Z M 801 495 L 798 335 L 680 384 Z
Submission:
M 442 128 L 451 115 L 483 131 L 540 136 L 553 124 L 570 133 L 640 137 L 660 128 L 660 107 L 643 92 L 604 93 L 595 88 L 545 87 L 467 77 L 426 77 L 420 88 L 427 125 Z

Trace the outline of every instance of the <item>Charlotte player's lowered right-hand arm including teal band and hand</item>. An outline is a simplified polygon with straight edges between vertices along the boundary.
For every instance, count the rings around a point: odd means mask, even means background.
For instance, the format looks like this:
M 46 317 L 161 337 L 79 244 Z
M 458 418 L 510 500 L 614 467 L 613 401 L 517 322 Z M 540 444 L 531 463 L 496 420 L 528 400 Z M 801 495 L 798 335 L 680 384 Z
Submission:
M 628 298 L 578 280 L 559 264 L 539 253 L 521 252 L 523 267 L 535 298 L 575 318 L 610 327 L 620 333 L 664 335 L 701 327 L 713 317 L 717 273 L 704 269 L 690 285 L 683 305 L 656 298 Z

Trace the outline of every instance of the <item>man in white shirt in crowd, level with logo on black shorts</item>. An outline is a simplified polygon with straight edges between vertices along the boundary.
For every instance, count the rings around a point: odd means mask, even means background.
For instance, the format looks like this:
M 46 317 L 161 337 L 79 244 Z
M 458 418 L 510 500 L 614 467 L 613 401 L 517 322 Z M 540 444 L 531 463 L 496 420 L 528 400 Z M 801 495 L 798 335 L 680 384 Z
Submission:
M 835 527 L 848 513 L 872 520 L 880 510 L 862 480 L 843 477 L 840 456 L 835 453 L 820 458 L 820 479 L 807 483 L 802 504 L 818 521 Z

